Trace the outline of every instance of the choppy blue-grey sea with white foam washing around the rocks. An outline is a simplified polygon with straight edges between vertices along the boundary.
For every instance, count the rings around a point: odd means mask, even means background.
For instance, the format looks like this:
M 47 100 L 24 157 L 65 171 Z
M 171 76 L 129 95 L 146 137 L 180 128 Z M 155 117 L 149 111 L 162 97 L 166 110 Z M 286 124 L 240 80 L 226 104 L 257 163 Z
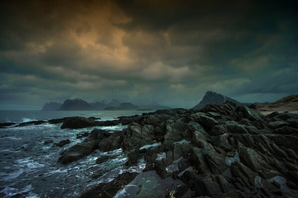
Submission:
M 119 116 L 140 115 L 143 111 L 0 111 L 0 122 L 28 122 L 71 116 L 97 117 L 102 120 Z M 125 171 L 142 172 L 145 163 L 140 160 L 135 167 L 125 167 L 127 156 L 121 149 L 101 152 L 95 150 L 82 159 L 62 165 L 57 163 L 60 152 L 82 139 L 76 134 L 93 129 L 122 130 L 127 126 L 91 127 L 84 129 L 60 129 L 62 124 L 9 127 L 0 129 L 0 197 L 73 198 L 100 182 L 109 182 Z M 53 143 L 70 139 L 64 147 L 52 147 Z M 96 164 L 100 156 L 111 159 Z

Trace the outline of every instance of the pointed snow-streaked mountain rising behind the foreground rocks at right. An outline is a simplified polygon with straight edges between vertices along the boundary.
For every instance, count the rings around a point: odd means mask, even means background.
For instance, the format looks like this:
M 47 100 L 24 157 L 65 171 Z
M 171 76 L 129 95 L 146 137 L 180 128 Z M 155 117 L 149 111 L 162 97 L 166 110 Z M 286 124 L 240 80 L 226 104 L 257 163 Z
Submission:
M 242 104 L 241 102 L 234 100 L 232 98 L 229 98 L 227 96 L 224 96 L 222 94 L 213 92 L 213 91 L 207 91 L 203 99 L 200 101 L 199 104 L 194 106 L 192 109 L 202 109 L 205 105 L 209 103 L 215 103 L 215 104 L 223 104 L 225 101 L 231 101 L 236 104 Z

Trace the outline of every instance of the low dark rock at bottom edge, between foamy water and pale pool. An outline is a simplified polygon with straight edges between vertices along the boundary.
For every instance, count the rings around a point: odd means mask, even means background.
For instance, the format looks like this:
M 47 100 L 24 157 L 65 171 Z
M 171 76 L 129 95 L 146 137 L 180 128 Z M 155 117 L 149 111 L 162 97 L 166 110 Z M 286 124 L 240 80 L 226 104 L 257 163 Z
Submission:
M 79 198 L 113 198 L 116 193 L 135 179 L 138 173 L 122 173 L 109 183 L 100 183 L 79 196 Z

